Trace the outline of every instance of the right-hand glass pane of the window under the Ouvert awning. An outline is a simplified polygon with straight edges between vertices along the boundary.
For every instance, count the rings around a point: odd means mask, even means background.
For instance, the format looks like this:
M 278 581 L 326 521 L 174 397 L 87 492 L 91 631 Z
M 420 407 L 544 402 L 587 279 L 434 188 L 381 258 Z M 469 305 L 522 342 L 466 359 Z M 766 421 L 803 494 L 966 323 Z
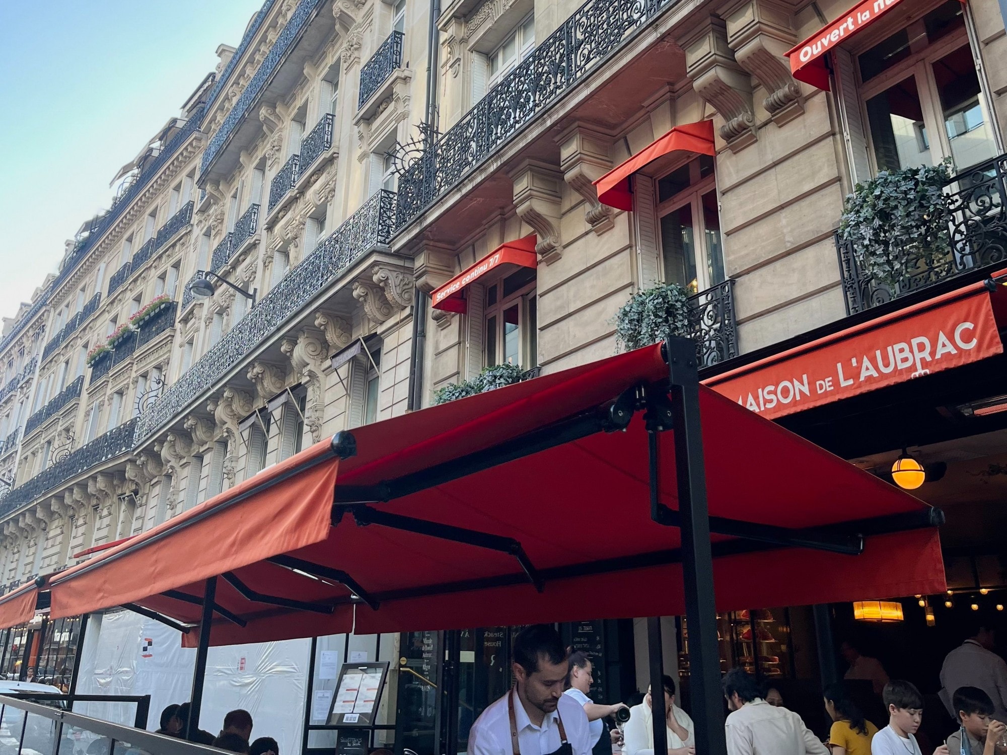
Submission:
M 941 109 L 955 167 L 963 170 L 996 157 L 993 130 L 986 117 L 969 45 L 934 62 L 933 79 L 941 93 Z

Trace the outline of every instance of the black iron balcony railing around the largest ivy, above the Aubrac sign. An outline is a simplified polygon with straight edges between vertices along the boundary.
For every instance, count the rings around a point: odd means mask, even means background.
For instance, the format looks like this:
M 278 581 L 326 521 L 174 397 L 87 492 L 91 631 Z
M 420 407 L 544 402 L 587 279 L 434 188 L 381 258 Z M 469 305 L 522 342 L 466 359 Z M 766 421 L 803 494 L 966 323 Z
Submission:
M 857 260 L 853 245 L 836 236 L 847 314 L 919 291 L 956 276 L 1003 265 L 1007 260 L 1007 155 L 961 173 L 945 188 L 951 253 L 927 265 L 918 252 L 906 251 L 912 274 L 895 285 L 876 280 Z

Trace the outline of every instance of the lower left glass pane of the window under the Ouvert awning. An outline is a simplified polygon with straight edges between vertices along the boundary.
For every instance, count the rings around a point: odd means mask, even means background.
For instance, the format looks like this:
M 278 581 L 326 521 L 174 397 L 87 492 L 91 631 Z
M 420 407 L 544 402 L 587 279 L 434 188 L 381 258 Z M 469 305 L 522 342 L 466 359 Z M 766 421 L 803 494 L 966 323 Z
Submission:
M 932 163 L 915 77 L 868 100 L 867 119 L 879 170 Z

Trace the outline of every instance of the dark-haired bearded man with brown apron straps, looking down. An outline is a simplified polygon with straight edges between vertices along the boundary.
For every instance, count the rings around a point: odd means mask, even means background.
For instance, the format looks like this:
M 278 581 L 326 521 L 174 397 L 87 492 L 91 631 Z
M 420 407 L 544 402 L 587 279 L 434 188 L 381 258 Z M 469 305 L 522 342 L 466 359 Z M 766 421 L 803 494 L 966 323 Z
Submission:
M 567 653 L 556 629 L 522 629 L 512 657 L 515 688 L 472 724 L 468 755 L 589 755 L 587 714 L 563 694 Z

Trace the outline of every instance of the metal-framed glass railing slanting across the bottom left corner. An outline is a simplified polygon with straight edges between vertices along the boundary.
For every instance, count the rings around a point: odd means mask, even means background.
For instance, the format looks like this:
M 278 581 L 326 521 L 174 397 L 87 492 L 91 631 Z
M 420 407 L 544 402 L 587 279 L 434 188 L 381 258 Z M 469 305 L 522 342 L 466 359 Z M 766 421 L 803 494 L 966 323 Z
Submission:
M 70 713 L 53 703 L 0 697 L 0 742 L 4 755 L 84 755 L 87 752 L 138 755 L 220 755 L 221 751 L 141 728 Z M 78 696 L 82 700 L 84 696 Z M 113 700 L 115 696 L 103 697 Z M 41 700 L 42 696 L 33 696 Z M 125 698 L 121 698 L 125 700 Z M 149 706 L 149 702 L 148 702 Z

